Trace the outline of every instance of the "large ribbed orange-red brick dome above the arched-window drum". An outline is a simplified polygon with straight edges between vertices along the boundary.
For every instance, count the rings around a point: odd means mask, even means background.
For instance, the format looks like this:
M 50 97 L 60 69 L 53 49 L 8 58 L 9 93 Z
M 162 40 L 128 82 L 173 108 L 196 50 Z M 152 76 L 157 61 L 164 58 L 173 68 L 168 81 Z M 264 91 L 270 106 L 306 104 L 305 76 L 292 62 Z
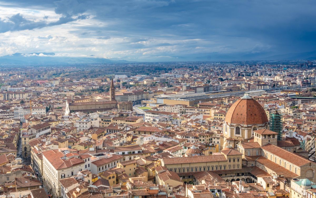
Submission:
M 268 122 L 262 106 L 252 97 L 243 96 L 228 110 L 225 122 L 240 125 L 262 125 Z

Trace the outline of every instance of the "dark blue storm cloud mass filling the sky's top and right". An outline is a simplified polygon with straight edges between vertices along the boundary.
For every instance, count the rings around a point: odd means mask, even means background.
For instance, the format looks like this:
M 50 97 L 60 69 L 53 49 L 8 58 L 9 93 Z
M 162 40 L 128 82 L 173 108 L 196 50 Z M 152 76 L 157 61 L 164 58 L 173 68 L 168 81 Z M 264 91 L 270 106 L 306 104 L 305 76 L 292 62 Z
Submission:
M 16 5 L 53 8 L 57 22 L 21 15 L 0 21 L 0 32 L 35 29 L 85 19 L 88 13 L 105 26 L 81 26 L 82 38 L 128 37 L 119 49 L 181 46 L 181 52 L 283 54 L 313 51 L 316 1 L 313 0 L 13 0 Z M 155 43 L 150 44 L 150 41 Z M 171 42 L 174 41 L 174 42 Z M 200 50 L 200 51 L 198 51 Z M 159 55 L 166 55 L 169 52 Z M 176 54 L 176 50 L 173 52 Z

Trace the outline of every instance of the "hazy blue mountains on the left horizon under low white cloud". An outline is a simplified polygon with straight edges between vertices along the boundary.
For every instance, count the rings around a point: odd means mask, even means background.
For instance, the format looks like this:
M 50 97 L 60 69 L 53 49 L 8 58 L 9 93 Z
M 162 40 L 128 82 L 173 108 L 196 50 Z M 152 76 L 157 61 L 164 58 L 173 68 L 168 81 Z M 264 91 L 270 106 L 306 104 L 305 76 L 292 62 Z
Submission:
M 56 56 L 55 53 L 30 53 L 30 54 L 9 54 L 0 56 L 0 64 L 36 64 L 36 65 L 56 65 L 56 64 L 80 64 L 80 63 L 117 63 L 127 62 L 125 60 L 111 60 L 105 58 L 89 57 L 64 57 Z

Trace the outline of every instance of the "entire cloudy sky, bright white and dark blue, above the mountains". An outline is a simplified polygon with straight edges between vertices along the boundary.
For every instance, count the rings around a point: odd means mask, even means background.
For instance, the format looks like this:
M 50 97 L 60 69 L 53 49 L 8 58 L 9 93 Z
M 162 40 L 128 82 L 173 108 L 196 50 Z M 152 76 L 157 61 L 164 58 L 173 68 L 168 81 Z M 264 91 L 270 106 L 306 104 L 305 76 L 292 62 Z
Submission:
M 127 61 L 315 51 L 314 0 L 0 0 L 0 56 Z

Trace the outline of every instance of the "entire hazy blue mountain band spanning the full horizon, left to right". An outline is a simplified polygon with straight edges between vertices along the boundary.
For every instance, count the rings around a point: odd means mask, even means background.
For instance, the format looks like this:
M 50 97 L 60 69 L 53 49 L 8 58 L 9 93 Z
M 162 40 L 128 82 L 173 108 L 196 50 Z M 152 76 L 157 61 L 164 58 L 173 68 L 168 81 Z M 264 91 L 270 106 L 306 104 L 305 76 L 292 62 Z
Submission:
M 280 60 L 316 60 L 316 51 L 303 52 L 303 53 L 290 53 L 270 55 L 266 53 L 248 53 L 248 54 L 225 54 L 225 53 L 204 53 L 204 54 L 187 54 L 183 56 L 172 56 L 170 60 L 153 60 L 151 61 L 280 61 Z M 131 57 L 125 57 L 130 59 Z M 133 59 L 136 61 L 142 61 Z M 147 60 L 146 62 L 148 62 Z M 66 57 L 57 56 L 55 53 L 30 53 L 30 54 L 9 54 L 0 56 L 0 65 L 3 64 L 29 64 L 29 65 L 63 65 L 63 64 L 102 64 L 102 63 L 119 63 L 130 62 L 120 60 L 118 58 L 106 59 L 96 58 L 95 55 L 89 55 L 87 57 Z

